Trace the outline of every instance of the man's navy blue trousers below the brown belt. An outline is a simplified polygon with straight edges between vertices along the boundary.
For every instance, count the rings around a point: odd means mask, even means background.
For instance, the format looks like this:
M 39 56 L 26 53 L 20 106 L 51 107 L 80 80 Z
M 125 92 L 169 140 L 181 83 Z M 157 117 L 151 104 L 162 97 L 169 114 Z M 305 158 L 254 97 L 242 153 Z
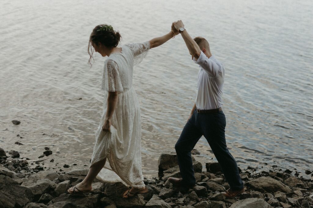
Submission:
M 175 144 L 182 181 L 187 186 L 195 185 L 191 150 L 202 135 L 207 139 L 222 172 L 232 190 L 244 187 L 239 176 L 237 163 L 229 153 L 225 140 L 226 118 L 223 111 L 214 114 L 200 114 L 196 110 L 188 120 Z

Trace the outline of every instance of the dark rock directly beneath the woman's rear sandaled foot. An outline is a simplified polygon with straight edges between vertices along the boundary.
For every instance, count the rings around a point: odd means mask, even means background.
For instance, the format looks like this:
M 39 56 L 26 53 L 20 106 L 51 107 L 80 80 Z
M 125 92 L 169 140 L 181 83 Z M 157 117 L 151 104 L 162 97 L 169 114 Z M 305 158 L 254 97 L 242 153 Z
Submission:
M 113 200 L 117 207 L 138 207 L 146 204 L 142 194 L 137 194 L 130 199 L 123 199 L 121 196 L 128 189 L 122 183 L 105 183 L 104 195 Z

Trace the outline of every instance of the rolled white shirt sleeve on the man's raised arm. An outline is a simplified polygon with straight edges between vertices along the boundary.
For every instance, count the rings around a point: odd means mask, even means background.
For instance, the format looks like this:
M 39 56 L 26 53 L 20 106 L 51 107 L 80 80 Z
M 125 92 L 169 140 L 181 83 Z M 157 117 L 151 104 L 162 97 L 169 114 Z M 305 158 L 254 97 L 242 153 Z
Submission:
M 212 77 L 217 77 L 221 72 L 221 68 L 213 60 L 210 60 L 210 58 L 208 58 L 202 51 L 198 60 L 193 57 L 193 61 L 200 65 Z

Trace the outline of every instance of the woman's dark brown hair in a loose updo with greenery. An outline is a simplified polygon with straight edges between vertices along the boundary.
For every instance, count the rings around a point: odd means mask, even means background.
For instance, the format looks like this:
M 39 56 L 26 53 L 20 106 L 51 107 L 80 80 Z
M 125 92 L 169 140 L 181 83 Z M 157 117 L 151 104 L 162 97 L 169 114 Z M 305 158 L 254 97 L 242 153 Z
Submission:
M 92 66 L 90 60 L 94 60 L 94 58 L 92 57 L 94 50 L 91 43 L 97 46 L 99 45 L 99 43 L 101 43 L 101 45 L 105 47 L 114 48 L 118 45 L 121 38 L 122 36 L 120 35 L 119 31 L 115 31 L 111 25 L 97 25 L 92 30 L 89 38 L 88 54 L 90 58 L 88 63 L 90 64 L 90 67 Z

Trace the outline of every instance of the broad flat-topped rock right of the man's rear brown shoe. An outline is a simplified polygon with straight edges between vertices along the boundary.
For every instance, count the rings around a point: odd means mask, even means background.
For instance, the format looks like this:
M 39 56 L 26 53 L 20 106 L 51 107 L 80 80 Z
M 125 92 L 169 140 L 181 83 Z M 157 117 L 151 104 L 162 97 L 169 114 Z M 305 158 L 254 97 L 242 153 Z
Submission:
M 248 181 L 245 185 L 260 192 L 281 191 L 284 193 L 289 193 L 292 191 L 288 186 L 281 183 L 280 181 L 277 181 L 271 177 L 264 177 L 264 176 Z

